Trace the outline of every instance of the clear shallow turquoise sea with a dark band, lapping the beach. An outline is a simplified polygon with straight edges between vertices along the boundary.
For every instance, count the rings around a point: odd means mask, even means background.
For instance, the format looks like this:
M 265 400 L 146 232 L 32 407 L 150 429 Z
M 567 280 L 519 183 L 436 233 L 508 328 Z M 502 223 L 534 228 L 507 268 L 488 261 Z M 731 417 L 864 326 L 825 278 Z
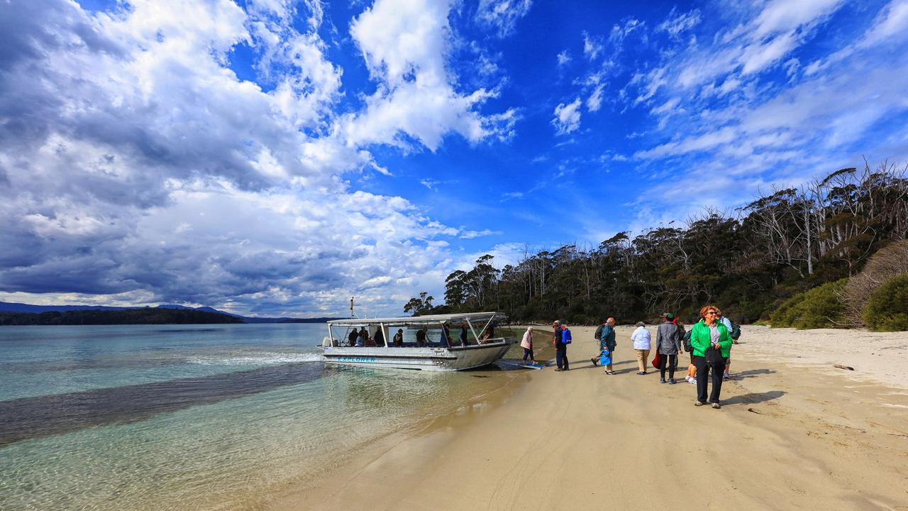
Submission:
M 518 373 L 325 366 L 326 334 L 0 327 L 0 509 L 256 508 Z

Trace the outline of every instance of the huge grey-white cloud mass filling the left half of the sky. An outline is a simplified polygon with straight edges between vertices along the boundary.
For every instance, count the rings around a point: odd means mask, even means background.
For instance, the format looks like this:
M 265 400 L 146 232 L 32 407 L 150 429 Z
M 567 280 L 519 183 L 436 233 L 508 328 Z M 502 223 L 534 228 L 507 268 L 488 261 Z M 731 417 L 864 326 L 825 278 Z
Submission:
M 338 115 L 315 0 L 0 3 L 0 299 L 318 316 L 366 283 L 383 286 L 367 303 L 397 309 L 443 282 L 442 238 L 484 233 L 344 175 L 390 175 L 376 144 L 507 137 L 517 115 L 459 91 L 450 5 L 404 4 L 351 25 L 378 87 Z M 232 69 L 240 47 L 254 82 Z

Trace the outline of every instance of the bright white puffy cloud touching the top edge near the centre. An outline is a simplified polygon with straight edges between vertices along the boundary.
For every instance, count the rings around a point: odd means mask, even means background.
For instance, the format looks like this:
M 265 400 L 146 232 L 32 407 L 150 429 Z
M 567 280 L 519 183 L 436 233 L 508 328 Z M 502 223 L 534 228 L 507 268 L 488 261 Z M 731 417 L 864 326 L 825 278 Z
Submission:
M 508 135 L 514 112 L 484 116 L 476 111 L 496 92 L 455 90 L 446 69 L 450 6 L 426 0 L 378 0 L 353 21 L 350 35 L 380 87 L 366 99 L 363 112 L 342 120 L 348 145 L 407 147 L 402 135 L 409 135 L 434 151 L 450 132 L 472 142 Z

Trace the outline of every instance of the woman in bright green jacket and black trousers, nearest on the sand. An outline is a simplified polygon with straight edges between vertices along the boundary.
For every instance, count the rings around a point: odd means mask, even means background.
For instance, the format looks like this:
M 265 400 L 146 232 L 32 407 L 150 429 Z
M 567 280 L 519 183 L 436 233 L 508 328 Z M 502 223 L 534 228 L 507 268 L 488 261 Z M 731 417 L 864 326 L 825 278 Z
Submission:
M 696 403 L 694 406 L 706 405 L 706 376 L 713 380 L 713 391 L 709 394 L 709 402 L 714 408 L 719 405 L 719 393 L 722 392 L 722 373 L 725 370 L 725 360 L 728 359 L 732 347 L 732 336 L 728 328 L 718 321 L 719 309 L 716 306 L 705 306 L 700 309 L 703 317 L 690 330 L 690 345 L 694 348 L 694 364 L 696 365 Z M 718 351 L 708 353 L 710 350 Z M 707 356 L 709 355 L 709 356 Z M 715 357 L 715 359 L 714 359 Z M 707 362 L 707 358 L 710 361 Z

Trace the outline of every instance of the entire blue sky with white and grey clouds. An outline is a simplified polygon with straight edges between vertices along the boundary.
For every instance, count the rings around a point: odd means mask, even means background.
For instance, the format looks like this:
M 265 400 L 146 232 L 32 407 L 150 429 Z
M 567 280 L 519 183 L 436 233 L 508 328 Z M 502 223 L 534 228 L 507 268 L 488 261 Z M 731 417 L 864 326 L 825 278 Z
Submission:
M 908 161 L 908 0 L 0 0 L 0 301 L 402 314 Z

